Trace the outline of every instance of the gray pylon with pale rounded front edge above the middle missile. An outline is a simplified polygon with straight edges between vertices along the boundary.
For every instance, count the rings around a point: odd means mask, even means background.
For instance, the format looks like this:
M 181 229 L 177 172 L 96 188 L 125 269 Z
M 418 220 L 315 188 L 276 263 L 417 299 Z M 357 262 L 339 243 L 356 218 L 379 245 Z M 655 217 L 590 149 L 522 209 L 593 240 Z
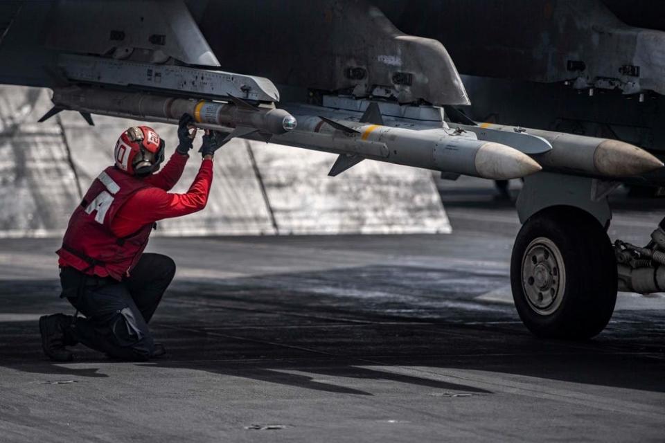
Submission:
M 224 69 L 276 84 L 400 102 L 469 102 L 441 42 L 402 33 L 364 0 L 209 2 L 199 26 Z M 363 75 L 347 74 L 356 68 Z

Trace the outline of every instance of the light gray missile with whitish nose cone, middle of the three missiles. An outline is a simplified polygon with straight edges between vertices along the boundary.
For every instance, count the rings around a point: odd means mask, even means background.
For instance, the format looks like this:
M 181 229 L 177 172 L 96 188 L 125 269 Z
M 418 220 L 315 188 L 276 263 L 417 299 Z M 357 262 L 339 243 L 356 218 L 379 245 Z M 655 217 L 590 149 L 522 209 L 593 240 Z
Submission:
M 298 127 L 275 136 L 274 143 L 340 154 L 330 170 L 337 175 L 362 161 L 374 159 L 464 174 L 484 179 L 515 179 L 540 171 L 526 154 L 502 145 L 479 141 L 472 133 L 449 128 L 404 129 L 317 116 L 330 109 L 314 106 L 286 107 L 298 119 Z M 366 115 L 376 114 L 368 109 Z

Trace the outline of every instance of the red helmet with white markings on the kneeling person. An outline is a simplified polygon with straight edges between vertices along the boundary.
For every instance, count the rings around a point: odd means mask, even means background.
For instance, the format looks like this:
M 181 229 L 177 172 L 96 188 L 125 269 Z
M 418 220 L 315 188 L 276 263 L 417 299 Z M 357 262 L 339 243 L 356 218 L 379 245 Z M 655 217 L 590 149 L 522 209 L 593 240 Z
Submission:
M 116 168 L 145 176 L 159 170 L 164 160 L 164 141 L 148 126 L 133 126 L 121 134 L 114 152 Z

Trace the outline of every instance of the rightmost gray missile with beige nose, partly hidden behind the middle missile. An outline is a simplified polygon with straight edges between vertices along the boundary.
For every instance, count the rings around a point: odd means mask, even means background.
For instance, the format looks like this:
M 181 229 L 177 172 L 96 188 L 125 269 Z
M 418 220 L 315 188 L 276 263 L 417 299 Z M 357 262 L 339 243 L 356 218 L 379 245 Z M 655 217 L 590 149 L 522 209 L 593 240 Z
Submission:
M 492 132 L 520 132 L 537 136 L 549 142 L 553 149 L 544 152 L 526 152 L 538 161 L 544 170 L 586 174 L 596 177 L 632 177 L 663 167 L 663 162 L 645 150 L 610 138 L 597 138 L 544 131 L 542 129 L 518 128 L 492 123 L 477 126 L 450 124 L 475 132 L 478 138 L 493 140 Z

